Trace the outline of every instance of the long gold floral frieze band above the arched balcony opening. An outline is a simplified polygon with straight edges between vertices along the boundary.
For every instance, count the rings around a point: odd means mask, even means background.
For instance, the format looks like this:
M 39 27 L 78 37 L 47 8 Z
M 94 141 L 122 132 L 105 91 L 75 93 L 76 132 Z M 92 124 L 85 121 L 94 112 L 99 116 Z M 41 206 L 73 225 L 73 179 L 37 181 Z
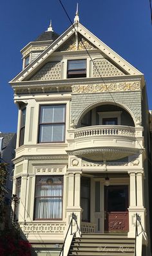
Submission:
M 109 91 L 139 91 L 140 81 L 135 82 L 113 82 L 102 84 L 75 85 L 73 93 L 102 93 Z

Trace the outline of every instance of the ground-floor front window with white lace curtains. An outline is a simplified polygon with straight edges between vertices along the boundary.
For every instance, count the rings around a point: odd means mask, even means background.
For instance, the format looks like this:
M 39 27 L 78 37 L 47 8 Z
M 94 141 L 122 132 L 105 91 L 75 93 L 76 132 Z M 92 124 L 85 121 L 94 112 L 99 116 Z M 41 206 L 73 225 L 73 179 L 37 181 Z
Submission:
M 37 176 L 35 220 L 62 219 L 63 176 Z

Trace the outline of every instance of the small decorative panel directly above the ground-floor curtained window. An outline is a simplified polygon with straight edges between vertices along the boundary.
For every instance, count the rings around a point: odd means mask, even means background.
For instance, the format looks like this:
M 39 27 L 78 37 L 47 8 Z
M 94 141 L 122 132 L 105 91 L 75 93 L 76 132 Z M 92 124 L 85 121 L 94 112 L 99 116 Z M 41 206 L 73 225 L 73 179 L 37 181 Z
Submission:
M 35 167 L 35 174 L 64 174 L 65 166 Z

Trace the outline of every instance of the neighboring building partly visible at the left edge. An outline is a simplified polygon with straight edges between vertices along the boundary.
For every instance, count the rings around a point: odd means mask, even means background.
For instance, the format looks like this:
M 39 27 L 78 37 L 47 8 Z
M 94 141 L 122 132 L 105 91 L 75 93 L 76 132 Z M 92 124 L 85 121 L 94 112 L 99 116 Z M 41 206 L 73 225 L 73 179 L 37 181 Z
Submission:
M 6 180 L 6 190 L 8 194 L 6 200 L 12 197 L 12 185 L 14 176 L 14 163 L 12 159 L 15 157 L 16 134 L 15 133 L 2 133 L 0 132 L 0 163 L 6 163 L 8 176 Z

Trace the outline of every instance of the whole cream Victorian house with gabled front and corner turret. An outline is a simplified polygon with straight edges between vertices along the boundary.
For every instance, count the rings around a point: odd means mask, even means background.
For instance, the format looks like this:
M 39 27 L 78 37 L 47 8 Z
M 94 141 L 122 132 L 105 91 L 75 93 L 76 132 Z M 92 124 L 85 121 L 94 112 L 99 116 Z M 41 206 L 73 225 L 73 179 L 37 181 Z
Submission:
M 59 255 L 75 213 L 91 241 L 91 233 L 124 233 L 128 246 L 138 214 L 149 239 L 138 223 L 138 256 L 142 244 L 151 255 L 144 75 L 78 15 L 61 36 L 50 25 L 21 52 L 23 71 L 10 84 L 19 106 L 14 194 L 24 234 L 38 255 Z

